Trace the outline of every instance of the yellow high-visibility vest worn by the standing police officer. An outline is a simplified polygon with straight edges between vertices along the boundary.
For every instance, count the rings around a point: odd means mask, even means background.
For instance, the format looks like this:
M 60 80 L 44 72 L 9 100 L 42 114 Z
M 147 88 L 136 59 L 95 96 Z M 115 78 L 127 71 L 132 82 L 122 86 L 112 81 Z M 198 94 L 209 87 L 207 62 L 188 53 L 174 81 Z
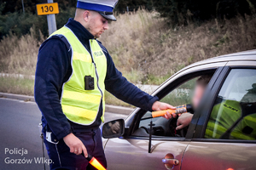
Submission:
M 96 121 L 102 101 L 102 122 L 104 122 L 104 80 L 107 73 L 107 59 L 102 48 L 96 40 L 92 39 L 90 40 L 90 54 L 73 31 L 66 26 L 55 31 L 51 36 L 53 35 L 66 37 L 73 51 L 71 62 L 73 72 L 62 87 L 62 111 L 70 121 L 90 125 Z M 94 90 L 84 90 L 85 76 L 94 77 Z

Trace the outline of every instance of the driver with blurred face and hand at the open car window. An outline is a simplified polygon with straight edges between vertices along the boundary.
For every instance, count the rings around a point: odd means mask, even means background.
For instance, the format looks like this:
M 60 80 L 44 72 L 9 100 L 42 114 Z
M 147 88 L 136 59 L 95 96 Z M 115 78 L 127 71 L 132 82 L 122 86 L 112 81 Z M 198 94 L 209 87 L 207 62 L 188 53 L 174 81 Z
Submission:
M 203 75 L 196 80 L 194 95 L 192 97 L 192 105 L 193 105 L 194 110 L 199 105 L 201 98 L 202 98 L 202 96 L 205 92 L 205 89 L 207 88 L 207 85 L 210 82 L 211 78 L 212 78 L 212 75 Z M 171 119 L 172 115 L 167 112 L 164 117 L 166 119 Z M 175 118 L 176 115 L 173 114 L 173 117 Z M 183 127 L 188 127 L 189 123 L 192 120 L 192 117 L 193 117 L 193 114 L 191 114 L 191 113 L 183 113 L 181 116 L 179 116 L 177 119 L 176 130 L 180 130 Z

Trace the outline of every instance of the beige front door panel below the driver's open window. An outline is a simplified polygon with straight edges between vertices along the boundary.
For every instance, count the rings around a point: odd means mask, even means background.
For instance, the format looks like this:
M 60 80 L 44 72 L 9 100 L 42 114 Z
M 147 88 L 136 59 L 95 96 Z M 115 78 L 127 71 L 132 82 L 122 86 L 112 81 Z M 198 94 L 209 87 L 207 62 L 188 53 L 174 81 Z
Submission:
M 166 170 L 162 159 L 172 154 L 181 162 L 188 141 L 152 140 L 152 153 L 148 153 L 148 139 L 109 139 L 105 148 L 108 169 Z M 173 170 L 180 169 L 181 163 Z

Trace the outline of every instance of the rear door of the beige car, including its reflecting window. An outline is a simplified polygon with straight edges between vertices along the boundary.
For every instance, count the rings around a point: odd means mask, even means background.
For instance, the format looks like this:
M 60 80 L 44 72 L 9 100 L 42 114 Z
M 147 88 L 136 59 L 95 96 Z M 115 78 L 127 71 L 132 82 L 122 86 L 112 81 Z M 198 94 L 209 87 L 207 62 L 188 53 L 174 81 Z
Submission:
M 256 169 L 256 62 L 228 65 L 209 92 L 215 97 L 192 119 L 181 169 Z

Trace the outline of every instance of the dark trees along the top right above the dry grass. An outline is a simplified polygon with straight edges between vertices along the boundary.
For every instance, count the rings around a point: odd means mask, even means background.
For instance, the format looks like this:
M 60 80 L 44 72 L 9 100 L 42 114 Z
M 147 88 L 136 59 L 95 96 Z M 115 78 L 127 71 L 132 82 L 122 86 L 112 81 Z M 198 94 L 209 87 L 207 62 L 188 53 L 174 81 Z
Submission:
M 153 7 L 174 25 L 185 25 L 188 20 L 205 21 L 212 18 L 232 18 L 237 14 L 252 14 L 256 0 L 159 0 Z M 252 9 L 254 8 L 254 9 Z

